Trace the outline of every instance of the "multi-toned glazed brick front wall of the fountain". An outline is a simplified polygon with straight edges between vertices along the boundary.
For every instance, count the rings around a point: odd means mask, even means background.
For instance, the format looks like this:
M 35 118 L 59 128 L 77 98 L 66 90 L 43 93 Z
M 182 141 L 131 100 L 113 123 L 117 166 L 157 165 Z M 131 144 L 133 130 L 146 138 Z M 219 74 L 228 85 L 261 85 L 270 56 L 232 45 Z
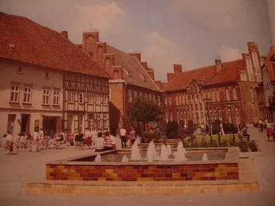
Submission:
M 237 163 L 198 165 L 46 165 L 47 180 L 212 181 L 239 179 Z

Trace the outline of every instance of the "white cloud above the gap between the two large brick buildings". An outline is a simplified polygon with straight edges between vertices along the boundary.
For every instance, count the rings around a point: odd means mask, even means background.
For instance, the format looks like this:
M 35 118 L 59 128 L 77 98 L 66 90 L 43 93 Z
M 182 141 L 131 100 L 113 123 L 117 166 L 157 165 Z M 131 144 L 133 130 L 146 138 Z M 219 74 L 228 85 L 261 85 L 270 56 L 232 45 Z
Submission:
M 173 72 L 173 64 L 183 68 L 194 66 L 195 58 L 188 56 L 176 43 L 154 31 L 145 36 L 142 59 L 155 69 L 155 79 L 167 81 L 166 73 Z

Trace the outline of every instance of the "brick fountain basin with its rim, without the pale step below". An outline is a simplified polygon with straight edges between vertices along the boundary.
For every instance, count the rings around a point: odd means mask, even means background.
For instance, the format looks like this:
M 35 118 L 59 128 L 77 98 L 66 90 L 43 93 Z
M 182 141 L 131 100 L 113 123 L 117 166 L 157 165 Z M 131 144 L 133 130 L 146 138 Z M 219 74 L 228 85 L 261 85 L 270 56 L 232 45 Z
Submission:
M 192 148 L 188 153 L 224 151 L 224 159 L 208 161 L 95 162 L 96 155 L 53 161 L 46 164 L 51 181 L 214 181 L 239 179 L 239 148 Z M 130 150 L 102 152 L 129 155 Z M 186 155 L 188 157 L 188 154 Z M 192 156 L 192 155 L 191 155 Z

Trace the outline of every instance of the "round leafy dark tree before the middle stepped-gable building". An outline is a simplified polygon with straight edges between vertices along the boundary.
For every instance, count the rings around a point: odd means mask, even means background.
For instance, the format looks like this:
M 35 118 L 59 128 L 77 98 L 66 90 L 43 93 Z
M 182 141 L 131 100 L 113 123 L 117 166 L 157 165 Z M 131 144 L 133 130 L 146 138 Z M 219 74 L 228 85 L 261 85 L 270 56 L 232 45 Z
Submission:
M 148 122 L 162 120 L 162 109 L 152 100 L 137 98 L 129 110 L 131 122 L 144 122 L 147 128 Z

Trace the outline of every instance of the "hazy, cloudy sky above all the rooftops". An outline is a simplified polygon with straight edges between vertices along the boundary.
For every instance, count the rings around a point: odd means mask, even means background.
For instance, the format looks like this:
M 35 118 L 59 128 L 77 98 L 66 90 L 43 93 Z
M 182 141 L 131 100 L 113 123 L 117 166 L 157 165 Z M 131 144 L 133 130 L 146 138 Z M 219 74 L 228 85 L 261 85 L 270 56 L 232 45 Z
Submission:
M 272 44 L 266 0 L 2 0 L 0 11 L 66 30 L 76 44 L 92 24 L 100 41 L 141 52 L 164 82 L 173 64 L 185 71 L 236 60 L 248 42 L 266 56 Z

